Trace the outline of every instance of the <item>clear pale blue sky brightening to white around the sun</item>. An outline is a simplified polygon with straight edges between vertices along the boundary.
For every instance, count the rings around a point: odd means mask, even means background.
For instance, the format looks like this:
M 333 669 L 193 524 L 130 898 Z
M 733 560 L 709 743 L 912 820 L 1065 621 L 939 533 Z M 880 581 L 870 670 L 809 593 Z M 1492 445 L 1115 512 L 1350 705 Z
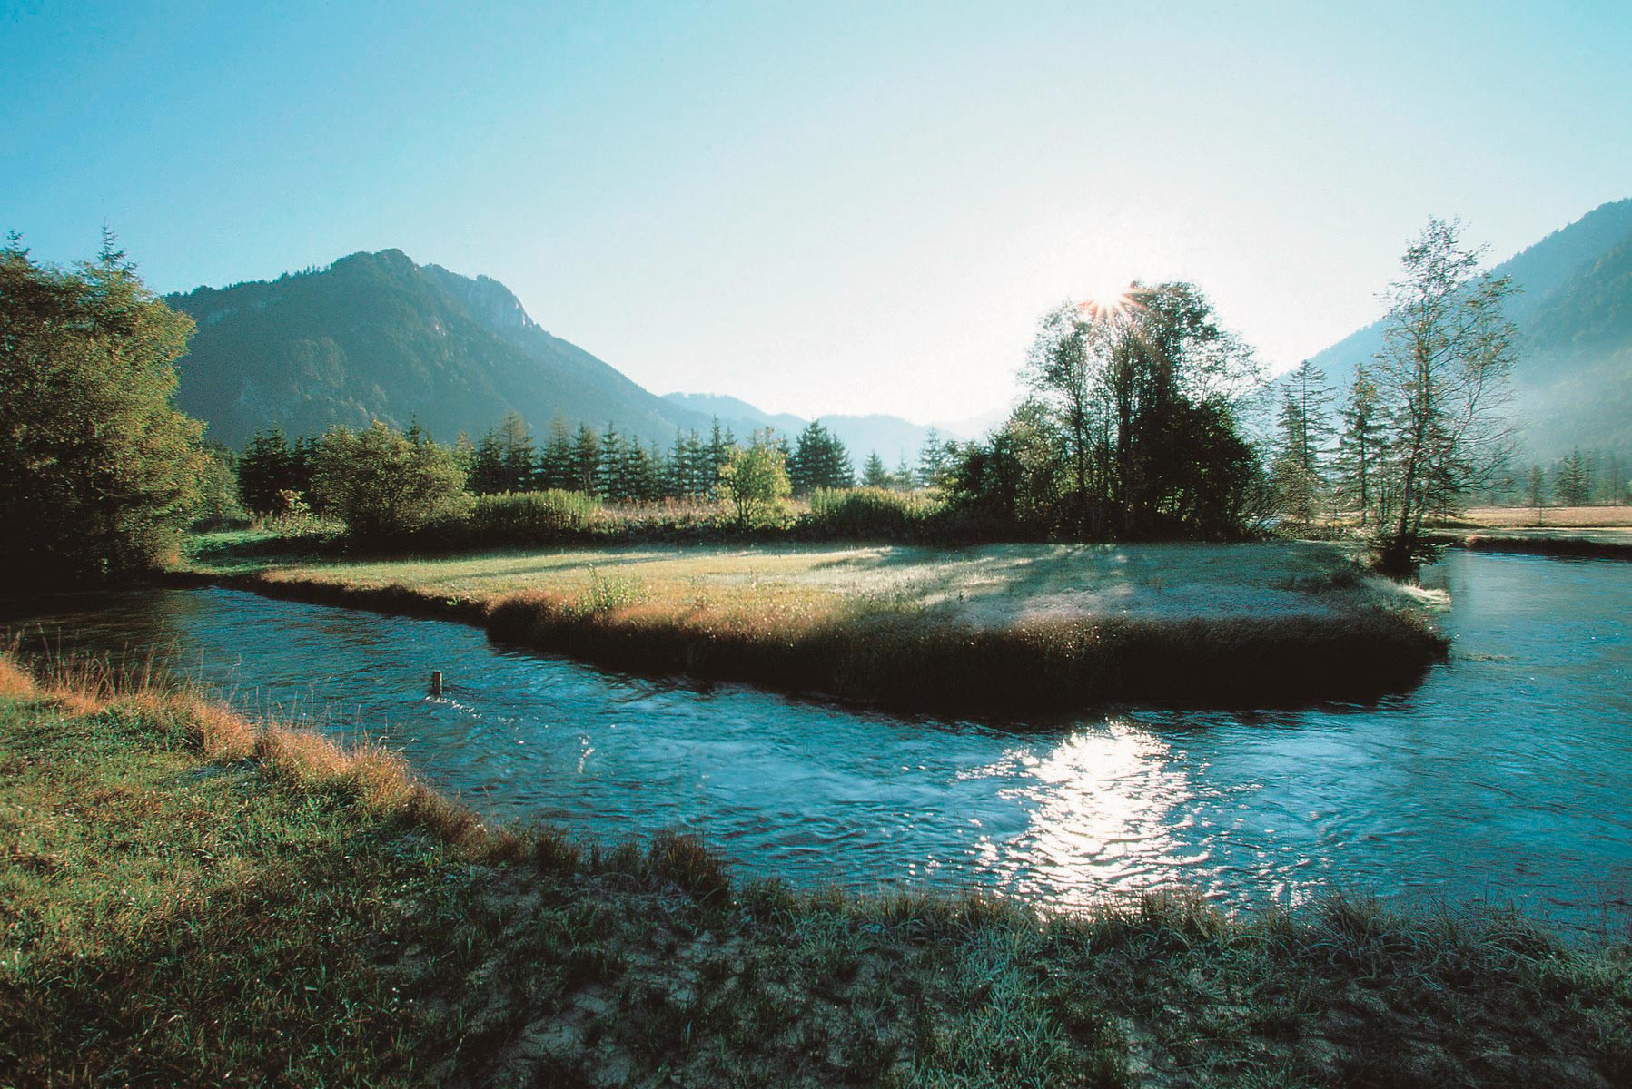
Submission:
M 0 3 L 0 230 L 157 290 L 486 274 L 654 393 L 919 422 L 1188 279 L 1271 372 L 1430 215 L 1632 196 L 1632 5 Z

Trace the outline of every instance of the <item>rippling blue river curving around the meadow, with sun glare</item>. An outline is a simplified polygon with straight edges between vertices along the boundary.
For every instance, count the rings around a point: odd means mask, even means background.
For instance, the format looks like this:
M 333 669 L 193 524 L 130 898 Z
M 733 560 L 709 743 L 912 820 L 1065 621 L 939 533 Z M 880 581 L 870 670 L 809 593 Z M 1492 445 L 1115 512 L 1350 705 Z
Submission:
M 994 725 L 609 673 L 455 623 L 235 590 L 64 597 L 0 619 L 144 655 L 258 712 L 380 737 L 498 818 L 685 828 L 741 869 L 1051 905 L 1188 885 L 1632 918 L 1632 564 L 1452 553 L 1451 662 L 1307 711 L 1116 709 Z M 426 696 L 444 670 L 442 698 Z

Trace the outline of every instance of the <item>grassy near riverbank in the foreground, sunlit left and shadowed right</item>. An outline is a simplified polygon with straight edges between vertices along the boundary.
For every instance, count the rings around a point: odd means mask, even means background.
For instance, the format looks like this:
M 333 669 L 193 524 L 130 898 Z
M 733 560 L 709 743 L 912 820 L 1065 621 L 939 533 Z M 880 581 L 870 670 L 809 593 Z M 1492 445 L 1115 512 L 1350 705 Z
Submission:
M 8 1084 L 1632 1074 L 1632 957 L 1519 918 L 739 882 L 692 840 L 486 828 L 377 748 L 85 680 L 0 665 Z

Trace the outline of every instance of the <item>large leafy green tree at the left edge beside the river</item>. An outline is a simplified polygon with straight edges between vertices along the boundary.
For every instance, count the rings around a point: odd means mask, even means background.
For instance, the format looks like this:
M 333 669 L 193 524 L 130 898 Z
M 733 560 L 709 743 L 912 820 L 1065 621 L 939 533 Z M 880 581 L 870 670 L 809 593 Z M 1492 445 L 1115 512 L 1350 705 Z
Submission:
M 173 406 L 193 320 L 104 233 L 95 261 L 0 246 L 0 571 L 96 579 L 173 553 L 206 471 L 204 425 Z

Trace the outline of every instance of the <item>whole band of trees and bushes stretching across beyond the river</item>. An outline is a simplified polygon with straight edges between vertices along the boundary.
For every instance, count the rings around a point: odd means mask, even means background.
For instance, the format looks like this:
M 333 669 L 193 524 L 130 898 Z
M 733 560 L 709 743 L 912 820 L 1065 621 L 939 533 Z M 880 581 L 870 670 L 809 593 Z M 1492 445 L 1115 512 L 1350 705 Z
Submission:
M 1528 491 L 1505 414 L 1514 290 L 1482 272 L 1459 225 L 1430 220 L 1386 293 L 1386 347 L 1340 408 L 1310 364 L 1283 385 L 1266 445 L 1244 421 L 1263 388 L 1252 351 L 1191 284 L 1129 285 L 1061 305 L 1040 323 L 1020 377 L 1028 396 L 991 435 L 932 435 L 916 466 L 867 458 L 860 483 L 929 489 L 974 536 L 1237 538 L 1275 517 L 1310 525 L 1355 512 L 1379 566 L 1428 554 L 1423 525 L 1479 494 Z M 845 445 L 821 422 L 738 440 L 718 422 L 666 448 L 615 424 L 552 421 L 540 442 L 519 416 L 442 445 L 423 429 L 256 434 L 242 456 L 211 452 L 173 408 L 191 320 L 163 305 L 106 240 L 70 271 L 0 251 L 0 502 L 15 531 L 8 571 L 114 574 L 158 562 L 189 518 L 230 502 L 232 476 L 261 514 L 307 504 L 359 533 L 392 533 L 472 499 L 574 492 L 610 504 L 707 500 L 739 522 L 788 494 L 850 489 Z M 1573 453 L 1550 474 L 1562 502 L 1624 497 L 1622 466 Z M 1606 486 L 1606 481 L 1609 484 Z M 875 504 L 876 505 L 876 504 Z M 901 507 L 906 510 L 906 507 Z M 914 510 L 925 510 L 922 504 Z M 914 515 L 917 517 L 917 515 Z

